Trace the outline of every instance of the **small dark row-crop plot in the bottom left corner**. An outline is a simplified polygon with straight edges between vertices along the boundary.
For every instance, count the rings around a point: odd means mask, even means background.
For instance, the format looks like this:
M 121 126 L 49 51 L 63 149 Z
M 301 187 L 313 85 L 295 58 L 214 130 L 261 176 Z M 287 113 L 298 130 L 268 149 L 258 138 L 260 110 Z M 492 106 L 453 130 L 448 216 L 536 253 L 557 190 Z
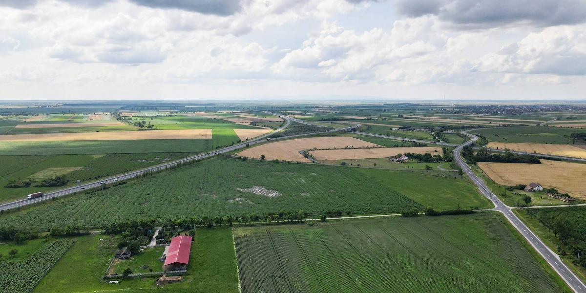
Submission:
M 25 261 L 0 262 L 0 292 L 31 292 L 73 243 L 69 239 L 53 241 Z

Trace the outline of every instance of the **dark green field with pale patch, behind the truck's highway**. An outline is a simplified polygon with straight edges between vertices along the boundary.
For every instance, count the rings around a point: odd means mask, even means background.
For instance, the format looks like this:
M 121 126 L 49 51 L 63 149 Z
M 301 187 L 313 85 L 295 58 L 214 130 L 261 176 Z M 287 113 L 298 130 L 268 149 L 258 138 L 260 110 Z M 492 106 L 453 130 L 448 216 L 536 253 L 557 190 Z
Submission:
M 38 188 L 34 185 L 43 179 L 56 176 L 56 171 L 66 171 L 63 168 L 79 168 L 75 171 L 64 173 L 69 185 L 76 184 L 76 180 L 98 180 L 97 177 L 114 175 L 157 165 L 170 160 L 180 159 L 194 153 L 155 153 L 155 154 L 107 154 L 107 155 L 39 155 L 39 156 L 1 156 L 2 168 L 0 168 L 0 202 L 24 198 L 29 193 L 54 189 Z M 59 172 L 63 173 L 63 172 Z M 35 178 L 35 183 L 28 188 L 6 188 L 6 184 L 12 180 L 21 182 Z

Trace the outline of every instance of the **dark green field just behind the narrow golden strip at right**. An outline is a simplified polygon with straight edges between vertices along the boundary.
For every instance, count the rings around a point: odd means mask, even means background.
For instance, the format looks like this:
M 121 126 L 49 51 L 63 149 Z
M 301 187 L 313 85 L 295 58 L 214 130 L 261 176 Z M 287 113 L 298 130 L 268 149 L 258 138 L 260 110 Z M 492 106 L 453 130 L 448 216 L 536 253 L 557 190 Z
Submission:
M 488 141 L 494 142 L 532 142 L 535 144 L 572 144 L 570 134 L 579 130 L 560 127 L 503 127 L 475 130 L 474 134 L 482 134 Z

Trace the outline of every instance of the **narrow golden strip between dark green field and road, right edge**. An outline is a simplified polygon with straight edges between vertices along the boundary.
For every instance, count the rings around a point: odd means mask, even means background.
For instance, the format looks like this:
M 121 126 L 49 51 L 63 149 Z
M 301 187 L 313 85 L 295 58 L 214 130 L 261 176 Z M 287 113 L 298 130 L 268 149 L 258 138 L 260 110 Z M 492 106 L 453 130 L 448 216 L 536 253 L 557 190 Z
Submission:
M 554 144 L 523 144 L 513 142 L 489 142 L 488 148 L 510 149 L 511 151 L 529 152 L 556 156 L 571 156 L 574 158 L 586 158 L 586 149 L 573 145 Z

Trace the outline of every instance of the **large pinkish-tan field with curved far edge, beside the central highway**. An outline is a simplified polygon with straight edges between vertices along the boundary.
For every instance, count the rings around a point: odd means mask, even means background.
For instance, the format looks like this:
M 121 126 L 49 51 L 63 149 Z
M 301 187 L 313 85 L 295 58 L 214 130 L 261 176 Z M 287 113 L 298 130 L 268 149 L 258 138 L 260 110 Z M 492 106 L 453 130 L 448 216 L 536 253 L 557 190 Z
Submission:
M 363 141 L 353 137 L 308 137 L 289 139 L 287 141 L 275 141 L 257 147 L 245 149 L 239 152 L 239 156 L 247 156 L 249 158 L 260 158 L 265 155 L 265 159 L 280 159 L 285 161 L 299 161 L 311 162 L 299 151 L 304 149 L 325 149 L 325 148 L 366 148 L 366 147 L 380 147 L 380 145 L 372 142 Z

